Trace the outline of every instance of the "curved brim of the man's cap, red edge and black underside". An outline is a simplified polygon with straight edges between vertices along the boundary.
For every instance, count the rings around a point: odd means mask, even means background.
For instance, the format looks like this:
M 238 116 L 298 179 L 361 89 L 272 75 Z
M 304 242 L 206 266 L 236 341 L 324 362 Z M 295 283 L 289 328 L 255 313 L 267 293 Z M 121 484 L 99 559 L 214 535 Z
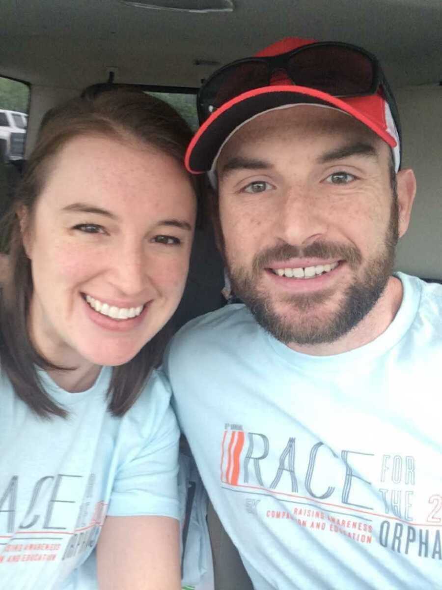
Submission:
M 383 100 L 378 95 L 373 99 Z M 259 113 L 298 103 L 322 104 L 342 110 L 370 127 L 391 148 L 397 145 L 390 133 L 343 99 L 304 86 L 266 86 L 236 96 L 210 115 L 187 148 L 184 160 L 187 170 L 194 174 L 209 171 L 219 149 L 237 127 Z

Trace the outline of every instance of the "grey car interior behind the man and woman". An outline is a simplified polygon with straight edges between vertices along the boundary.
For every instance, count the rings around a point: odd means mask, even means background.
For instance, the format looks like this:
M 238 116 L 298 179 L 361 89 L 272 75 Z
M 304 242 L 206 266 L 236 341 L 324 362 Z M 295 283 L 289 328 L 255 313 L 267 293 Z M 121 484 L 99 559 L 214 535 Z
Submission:
M 1 0 L 0 7 L 0 117 L 15 113 L 15 127 L 0 119 L 0 216 L 42 117 L 85 87 L 140 86 L 196 129 L 197 90 L 221 65 L 283 37 L 342 41 L 380 59 L 400 112 L 403 168 L 417 177 L 395 266 L 442 283 L 441 0 Z M 223 286 L 222 258 L 206 222 L 196 232 L 176 327 L 222 306 Z M 216 590 L 251 589 L 210 505 L 207 523 Z

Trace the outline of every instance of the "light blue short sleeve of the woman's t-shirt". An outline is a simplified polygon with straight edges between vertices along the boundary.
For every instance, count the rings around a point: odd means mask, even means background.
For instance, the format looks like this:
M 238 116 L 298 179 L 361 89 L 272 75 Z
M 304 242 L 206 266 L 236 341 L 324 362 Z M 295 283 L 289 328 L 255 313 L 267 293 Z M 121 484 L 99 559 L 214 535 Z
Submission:
M 171 516 L 179 519 L 179 428 L 170 407 L 170 386 L 154 371 L 118 435 L 119 466 L 109 516 Z

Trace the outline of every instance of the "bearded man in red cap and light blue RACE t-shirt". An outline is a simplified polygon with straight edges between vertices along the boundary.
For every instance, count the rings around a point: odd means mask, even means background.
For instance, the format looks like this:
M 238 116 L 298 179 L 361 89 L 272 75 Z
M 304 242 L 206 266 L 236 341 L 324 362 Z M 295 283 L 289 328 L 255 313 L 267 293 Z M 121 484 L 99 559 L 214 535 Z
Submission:
M 395 101 L 359 48 L 258 57 L 199 94 L 187 166 L 245 306 L 174 339 L 177 415 L 256 590 L 442 588 L 442 287 L 392 275 Z

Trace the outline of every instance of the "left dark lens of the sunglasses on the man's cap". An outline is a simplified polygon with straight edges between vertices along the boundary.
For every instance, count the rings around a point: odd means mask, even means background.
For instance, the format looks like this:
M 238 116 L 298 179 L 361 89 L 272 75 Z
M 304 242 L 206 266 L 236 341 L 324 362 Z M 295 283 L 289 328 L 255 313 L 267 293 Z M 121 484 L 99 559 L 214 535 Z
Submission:
M 267 86 L 269 66 L 262 61 L 232 64 L 210 78 L 199 96 L 201 123 L 222 104 L 239 94 Z

